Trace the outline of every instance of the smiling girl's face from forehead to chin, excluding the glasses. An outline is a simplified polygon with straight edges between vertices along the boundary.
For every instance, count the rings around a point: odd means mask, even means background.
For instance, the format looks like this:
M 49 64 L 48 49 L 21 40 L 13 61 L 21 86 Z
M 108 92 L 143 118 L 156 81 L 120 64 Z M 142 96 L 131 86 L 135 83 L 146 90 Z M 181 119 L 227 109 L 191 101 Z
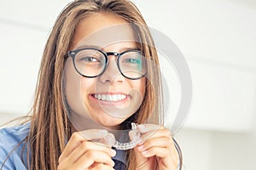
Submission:
M 122 30 L 117 29 L 111 33 L 107 31 L 108 35 L 102 32 L 95 33 L 110 26 L 125 24 L 125 20 L 113 14 L 91 14 L 79 22 L 70 50 L 93 46 L 104 52 L 121 53 L 128 49 L 137 49 L 132 29 L 128 25 Z M 119 34 L 133 41 L 117 42 L 118 40 L 114 40 L 113 37 L 118 37 Z M 112 42 L 108 42 L 106 37 Z M 73 61 L 69 57 L 65 66 L 65 93 L 67 104 L 72 110 L 70 117 L 74 126 L 76 127 L 77 122 L 85 125 L 96 122 L 110 128 L 118 126 L 133 115 L 142 104 L 145 83 L 144 77 L 138 80 L 123 77 L 119 72 L 116 56 L 109 55 L 107 69 L 101 76 L 94 78 L 81 77 L 75 71 Z

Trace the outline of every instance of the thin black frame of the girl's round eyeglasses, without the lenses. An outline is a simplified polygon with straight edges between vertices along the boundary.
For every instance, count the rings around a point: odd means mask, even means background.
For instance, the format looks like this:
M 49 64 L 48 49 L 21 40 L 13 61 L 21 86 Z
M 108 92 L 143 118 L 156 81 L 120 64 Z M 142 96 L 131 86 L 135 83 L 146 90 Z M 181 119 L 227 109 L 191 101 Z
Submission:
M 84 50 L 84 49 L 92 49 L 92 50 L 96 50 L 98 52 L 100 52 L 101 54 L 104 55 L 105 57 L 105 64 L 104 64 L 104 68 L 102 70 L 102 72 L 94 77 L 90 77 L 90 76 L 85 76 L 84 74 L 82 74 L 78 68 L 76 67 L 75 65 L 75 56 L 76 54 L 78 54 L 80 51 Z M 128 78 L 130 80 L 138 80 L 138 79 L 141 79 L 143 77 L 145 77 L 145 75 L 147 74 L 147 69 L 145 71 L 145 73 L 141 76 L 141 77 L 137 77 L 137 78 L 131 78 L 131 77 L 126 77 L 124 75 L 124 73 L 121 71 L 120 69 L 120 65 L 119 65 L 119 59 L 120 59 L 120 56 L 122 56 L 123 54 L 126 54 L 128 52 L 139 52 L 140 54 L 143 54 L 142 53 L 142 50 L 140 49 L 128 49 L 126 51 L 123 51 L 121 53 L 118 53 L 118 52 L 104 52 L 102 51 L 101 49 L 98 49 L 98 48 L 79 48 L 79 49 L 74 49 L 74 50 L 71 50 L 71 51 L 68 51 L 67 54 L 65 55 L 65 58 L 67 59 L 68 57 L 71 57 L 73 59 L 73 67 L 75 68 L 75 70 L 79 73 L 79 75 L 81 75 L 82 77 L 87 77 L 87 78 L 95 78 L 95 77 L 100 77 L 108 68 L 108 56 L 109 55 L 113 55 L 115 57 L 117 57 L 117 66 L 118 66 L 118 69 L 119 69 L 119 72 L 121 73 L 121 75 L 125 78 Z M 145 63 L 145 65 L 147 66 L 147 63 Z

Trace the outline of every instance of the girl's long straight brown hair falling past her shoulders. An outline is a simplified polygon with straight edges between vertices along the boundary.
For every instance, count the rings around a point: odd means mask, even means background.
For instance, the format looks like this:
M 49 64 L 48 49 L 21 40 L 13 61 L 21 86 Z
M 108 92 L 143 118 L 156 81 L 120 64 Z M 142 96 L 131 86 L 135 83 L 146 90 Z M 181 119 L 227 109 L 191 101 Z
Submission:
M 44 55 L 38 75 L 38 86 L 32 107 L 31 131 L 26 139 L 31 151 L 29 169 L 57 169 L 58 158 L 70 139 L 74 129 L 68 120 L 61 94 L 62 72 L 65 54 L 70 47 L 79 21 L 93 13 L 108 12 L 137 25 L 143 54 L 154 63 L 148 65 L 144 101 L 132 117 L 143 123 L 150 117 L 157 124 L 163 123 L 160 70 L 154 41 L 137 7 L 128 0 L 78 0 L 63 9 L 53 27 L 44 48 Z M 139 26 L 138 26 L 139 25 Z M 54 142 L 53 142 L 54 141 Z M 136 165 L 132 150 L 127 153 L 128 169 Z

